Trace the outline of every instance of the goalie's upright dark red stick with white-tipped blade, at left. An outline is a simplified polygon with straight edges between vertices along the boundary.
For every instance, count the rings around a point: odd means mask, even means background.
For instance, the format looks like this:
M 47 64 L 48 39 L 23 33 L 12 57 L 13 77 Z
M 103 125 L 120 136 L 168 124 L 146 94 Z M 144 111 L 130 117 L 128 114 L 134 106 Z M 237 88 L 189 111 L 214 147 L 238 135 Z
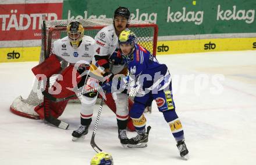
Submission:
M 44 43 L 44 60 L 47 59 L 47 36 L 46 36 L 46 25 L 45 25 L 45 15 L 42 17 L 42 42 Z M 47 78 L 47 84 L 45 87 L 45 91 L 48 91 L 49 89 L 49 78 Z M 48 123 L 60 128 L 66 130 L 69 127 L 68 123 L 62 122 L 59 119 L 54 118 L 54 116 L 51 115 L 51 109 L 50 106 L 50 100 L 47 97 L 44 97 L 44 119 Z

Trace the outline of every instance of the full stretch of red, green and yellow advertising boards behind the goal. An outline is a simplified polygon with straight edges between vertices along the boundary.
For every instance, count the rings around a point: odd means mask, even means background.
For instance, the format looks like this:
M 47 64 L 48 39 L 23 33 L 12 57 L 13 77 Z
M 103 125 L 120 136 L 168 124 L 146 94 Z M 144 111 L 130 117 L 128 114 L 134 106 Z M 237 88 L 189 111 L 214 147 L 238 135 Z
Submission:
M 256 50 L 255 0 L 4 0 L 0 63 L 38 59 L 43 14 L 47 20 L 104 19 L 119 6 L 130 9 L 131 20 L 158 24 L 157 54 Z

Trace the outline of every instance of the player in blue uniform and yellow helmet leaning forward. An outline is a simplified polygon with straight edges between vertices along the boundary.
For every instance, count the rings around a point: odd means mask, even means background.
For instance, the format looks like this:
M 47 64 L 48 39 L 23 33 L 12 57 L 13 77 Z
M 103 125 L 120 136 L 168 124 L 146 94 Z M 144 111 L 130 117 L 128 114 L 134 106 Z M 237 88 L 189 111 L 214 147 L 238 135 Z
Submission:
M 128 146 L 130 148 L 147 146 L 149 130 L 146 131 L 145 129 L 146 119 L 143 112 L 145 107 L 155 100 L 159 112 L 162 112 L 170 126 L 173 137 L 177 142 L 180 156 L 188 159 L 189 151 L 184 142 L 182 123 L 175 112 L 172 82 L 168 68 L 165 64 L 159 64 L 148 50 L 136 44 L 135 39 L 136 36 L 130 30 L 122 31 L 119 35 L 122 58 L 125 58 L 130 77 L 137 78 L 137 84 L 141 85 L 141 88 L 139 88 L 143 89 L 142 92 L 138 91 L 134 97 L 134 104 L 129 112 L 136 127 L 137 136 L 130 139 Z M 130 83 L 129 80 L 128 83 Z

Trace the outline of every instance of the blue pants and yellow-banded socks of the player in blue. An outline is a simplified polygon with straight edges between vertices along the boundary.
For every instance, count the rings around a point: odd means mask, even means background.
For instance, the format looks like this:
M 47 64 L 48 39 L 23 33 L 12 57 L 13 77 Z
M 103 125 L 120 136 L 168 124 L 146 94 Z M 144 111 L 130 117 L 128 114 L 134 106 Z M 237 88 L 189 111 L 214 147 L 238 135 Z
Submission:
M 160 90 L 157 93 L 145 94 L 142 97 L 135 97 L 134 104 L 129 112 L 130 118 L 133 120 L 133 124 L 138 133 L 144 133 L 146 118 L 143 115 L 145 107 L 151 104 L 155 100 L 157 102 L 159 112 L 162 112 L 166 122 L 170 126 L 170 130 L 175 137 L 176 141 L 184 139 L 183 127 L 179 117 L 175 111 L 175 104 L 172 96 L 172 83 L 169 84 L 169 89 Z

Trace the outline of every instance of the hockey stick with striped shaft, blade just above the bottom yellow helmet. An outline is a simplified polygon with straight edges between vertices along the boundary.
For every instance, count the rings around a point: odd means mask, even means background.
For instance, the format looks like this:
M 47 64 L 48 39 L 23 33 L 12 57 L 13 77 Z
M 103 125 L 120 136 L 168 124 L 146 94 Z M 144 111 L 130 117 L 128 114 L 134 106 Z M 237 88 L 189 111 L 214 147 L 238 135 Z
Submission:
M 109 74 L 112 72 L 113 64 L 114 64 L 114 60 L 112 61 Z M 104 91 L 104 94 L 105 94 L 105 93 L 106 93 L 106 91 Z M 97 144 L 95 144 L 95 140 L 94 140 L 94 139 L 95 139 L 95 134 L 96 134 L 97 126 L 98 126 L 98 123 L 99 123 L 99 118 L 101 117 L 101 110 L 102 110 L 103 102 L 104 102 L 104 98 L 102 97 L 102 98 L 101 98 L 101 105 L 99 106 L 98 115 L 97 115 L 97 118 L 96 118 L 96 121 L 95 121 L 95 126 L 94 126 L 94 130 L 93 130 L 93 135 L 91 135 L 91 146 L 93 147 L 93 149 L 94 149 L 97 153 L 102 152 L 102 149 L 99 148 Z

